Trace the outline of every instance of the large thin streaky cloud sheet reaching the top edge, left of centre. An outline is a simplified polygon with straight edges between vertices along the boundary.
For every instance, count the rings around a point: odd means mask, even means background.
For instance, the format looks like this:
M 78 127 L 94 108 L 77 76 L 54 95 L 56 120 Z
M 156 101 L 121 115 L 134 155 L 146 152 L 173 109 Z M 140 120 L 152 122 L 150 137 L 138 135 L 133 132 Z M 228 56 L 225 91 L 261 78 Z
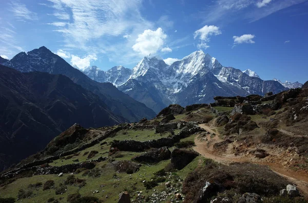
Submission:
M 155 29 L 157 22 L 145 20 L 140 9 L 141 0 L 84 1 L 48 0 L 54 9 L 52 15 L 66 22 L 54 24 L 56 32 L 63 35 L 64 46 L 78 48 L 87 53 L 105 53 L 109 60 L 134 63 L 141 52 L 133 52 L 139 34 Z M 171 25 L 164 16 L 160 22 Z M 157 28 L 157 27 L 156 27 Z M 119 38 L 121 36 L 121 38 Z

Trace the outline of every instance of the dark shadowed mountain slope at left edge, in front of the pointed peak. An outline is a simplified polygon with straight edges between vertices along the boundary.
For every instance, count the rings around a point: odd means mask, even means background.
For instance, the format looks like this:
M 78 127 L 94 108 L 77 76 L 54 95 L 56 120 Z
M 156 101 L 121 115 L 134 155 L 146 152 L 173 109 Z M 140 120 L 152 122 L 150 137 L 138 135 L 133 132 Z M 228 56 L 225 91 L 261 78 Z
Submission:
M 66 76 L 0 65 L 0 170 L 42 150 L 74 123 L 98 127 L 126 121 Z

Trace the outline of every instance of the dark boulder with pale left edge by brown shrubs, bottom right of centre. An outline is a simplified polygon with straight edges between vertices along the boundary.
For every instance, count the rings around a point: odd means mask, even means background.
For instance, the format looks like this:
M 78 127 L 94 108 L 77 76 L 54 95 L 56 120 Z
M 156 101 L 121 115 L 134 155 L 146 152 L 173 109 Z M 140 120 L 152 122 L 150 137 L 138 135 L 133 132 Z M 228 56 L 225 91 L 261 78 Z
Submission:
M 203 188 L 200 189 L 199 194 L 198 194 L 198 199 L 197 203 L 203 203 L 203 202 L 208 202 L 208 200 L 217 195 L 217 193 L 220 191 L 220 187 L 216 183 L 209 183 L 205 182 L 205 185 Z

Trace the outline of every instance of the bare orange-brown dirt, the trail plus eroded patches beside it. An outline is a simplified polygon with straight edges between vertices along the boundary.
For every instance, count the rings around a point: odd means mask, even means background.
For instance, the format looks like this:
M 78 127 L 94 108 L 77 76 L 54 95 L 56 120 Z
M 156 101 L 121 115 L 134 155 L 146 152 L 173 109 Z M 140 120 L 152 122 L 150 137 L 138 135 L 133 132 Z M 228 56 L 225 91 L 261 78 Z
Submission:
M 264 159 L 256 158 L 253 154 L 237 154 L 235 155 L 233 149 L 239 147 L 238 142 L 229 143 L 224 152 L 218 152 L 213 148 L 214 144 L 222 142 L 218 130 L 211 124 L 200 124 L 200 127 L 205 129 L 210 134 L 206 136 L 196 136 L 194 150 L 199 152 L 202 156 L 213 159 L 222 164 L 230 164 L 232 162 L 254 163 L 268 166 L 275 173 L 285 177 L 292 182 L 301 192 L 301 194 L 308 199 L 308 173 L 306 171 L 295 171 L 288 166 L 286 160 L 293 160 L 296 154 L 288 154 L 290 152 L 280 148 L 273 148 L 271 146 L 262 145 L 269 155 Z M 214 136 L 213 133 L 216 135 Z

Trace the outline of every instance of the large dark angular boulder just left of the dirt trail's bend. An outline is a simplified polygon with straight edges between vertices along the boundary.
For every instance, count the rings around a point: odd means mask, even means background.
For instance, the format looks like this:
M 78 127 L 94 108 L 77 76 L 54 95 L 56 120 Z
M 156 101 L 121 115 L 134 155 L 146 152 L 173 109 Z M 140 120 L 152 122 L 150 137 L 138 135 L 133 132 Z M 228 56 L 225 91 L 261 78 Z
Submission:
M 199 155 L 196 151 L 175 149 L 171 152 L 171 164 L 181 170 Z

